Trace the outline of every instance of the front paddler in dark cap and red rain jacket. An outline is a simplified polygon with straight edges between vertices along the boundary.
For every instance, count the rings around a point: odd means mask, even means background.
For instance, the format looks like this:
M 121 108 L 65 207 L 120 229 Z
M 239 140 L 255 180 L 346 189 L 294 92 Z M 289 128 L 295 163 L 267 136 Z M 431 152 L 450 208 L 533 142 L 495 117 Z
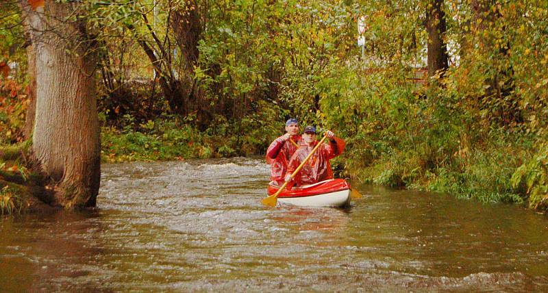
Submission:
M 319 146 L 308 162 L 299 170 L 299 173 L 293 178 L 295 185 L 302 186 L 333 179 L 333 170 L 331 169 L 329 160 L 343 153 L 346 143 L 344 140 L 337 138 L 332 131 L 328 130 L 325 135 L 329 142 Z M 302 138 L 306 146 L 301 146 L 292 155 L 289 160 L 286 177 L 284 178 L 285 181 L 290 180 L 291 174 L 297 170 L 297 167 L 305 160 L 310 151 L 314 149 L 314 146 L 319 143 L 316 141 L 316 127 L 305 127 Z

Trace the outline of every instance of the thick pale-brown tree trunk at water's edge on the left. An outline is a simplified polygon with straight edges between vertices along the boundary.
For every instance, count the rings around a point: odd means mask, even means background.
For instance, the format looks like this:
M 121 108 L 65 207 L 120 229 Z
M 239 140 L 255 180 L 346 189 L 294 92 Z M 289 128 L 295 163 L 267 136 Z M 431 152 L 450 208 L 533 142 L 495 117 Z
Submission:
M 29 10 L 36 48 L 36 118 L 32 150 L 54 183 L 55 204 L 95 206 L 100 179 L 100 139 L 95 68 L 97 60 L 77 3 L 45 1 Z

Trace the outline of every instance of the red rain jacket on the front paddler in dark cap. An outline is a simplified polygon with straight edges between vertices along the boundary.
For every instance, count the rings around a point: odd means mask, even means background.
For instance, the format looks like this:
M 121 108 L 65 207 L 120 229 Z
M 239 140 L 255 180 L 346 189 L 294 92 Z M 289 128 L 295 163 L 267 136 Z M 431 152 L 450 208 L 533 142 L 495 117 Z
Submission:
M 319 142 L 315 142 L 314 146 L 318 143 Z M 345 146 L 345 141 L 337 137 L 329 143 L 319 146 L 308 162 L 304 164 L 303 168 L 301 168 L 299 173 L 293 178 L 295 184 L 301 186 L 333 179 L 333 170 L 331 169 L 329 160 L 343 153 Z M 297 167 L 306 159 L 306 156 L 310 151 L 306 146 L 295 151 L 289 161 L 287 173 L 291 174 L 297 170 Z

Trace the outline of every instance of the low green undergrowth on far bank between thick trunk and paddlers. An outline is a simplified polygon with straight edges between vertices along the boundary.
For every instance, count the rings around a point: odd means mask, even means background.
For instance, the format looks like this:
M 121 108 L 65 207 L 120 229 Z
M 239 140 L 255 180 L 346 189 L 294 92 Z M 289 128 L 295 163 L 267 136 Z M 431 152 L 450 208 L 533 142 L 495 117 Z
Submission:
M 266 104 L 262 107 L 266 107 Z M 134 130 L 133 118 L 125 116 L 123 129 L 103 127 L 103 162 L 135 160 L 184 160 L 189 158 L 232 157 L 264 153 L 270 142 L 279 136 L 283 123 L 275 108 L 262 108 L 238 121 L 217 116 L 206 131 L 177 120 L 149 120 Z M 276 127 L 279 125 L 279 127 Z

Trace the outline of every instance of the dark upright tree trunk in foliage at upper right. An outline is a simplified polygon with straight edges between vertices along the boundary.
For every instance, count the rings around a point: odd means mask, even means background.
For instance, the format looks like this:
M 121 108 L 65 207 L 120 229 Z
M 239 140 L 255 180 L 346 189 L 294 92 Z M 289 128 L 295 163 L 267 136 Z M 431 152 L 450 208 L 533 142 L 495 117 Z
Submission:
M 443 40 L 447 31 L 443 0 L 431 0 L 426 13 L 426 29 L 428 31 L 427 68 L 428 77 L 443 73 L 449 68 L 447 44 Z

